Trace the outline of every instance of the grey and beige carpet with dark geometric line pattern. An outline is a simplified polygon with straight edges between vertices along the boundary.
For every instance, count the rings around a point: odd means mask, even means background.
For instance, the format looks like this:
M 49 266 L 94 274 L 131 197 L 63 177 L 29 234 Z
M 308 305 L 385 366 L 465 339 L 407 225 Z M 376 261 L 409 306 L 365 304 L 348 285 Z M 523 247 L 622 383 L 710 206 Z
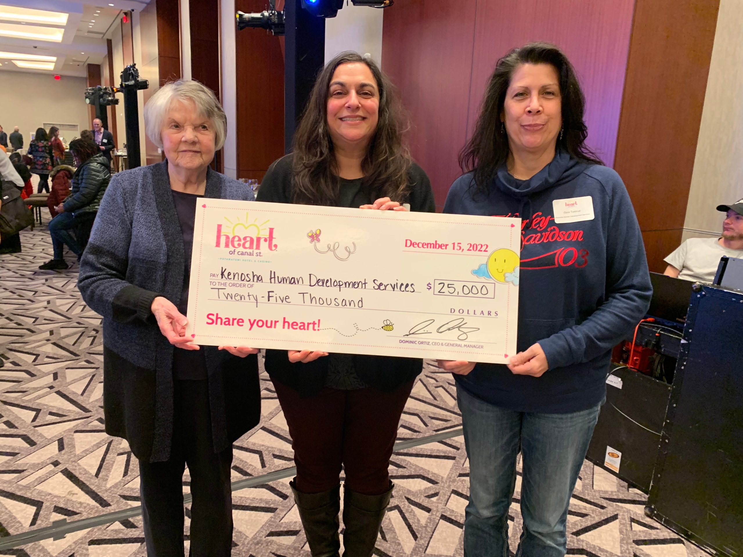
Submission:
M 48 223 L 48 213 L 44 221 Z M 125 441 L 103 431 L 100 317 L 77 292 L 77 264 L 39 271 L 51 258 L 46 226 L 22 232 L 23 252 L 0 255 L 0 543 L 2 537 L 139 504 L 137 465 Z M 74 256 L 68 255 L 68 262 Z M 292 466 L 291 440 L 272 385 L 262 375 L 259 426 L 235 446 L 233 478 Z M 426 366 L 398 439 L 455 429 L 449 374 Z M 461 556 L 469 468 L 461 437 L 396 452 L 397 484 L 375 554 Z M 309 556 L 288 479 L 234 493 L 234 555 Z M 516 484 L 511 549 L 522 529 Z M 184 492 L 189 481 L 184 478 Z M 646 518 L 646 497 L 585 462 L 568 516 L 568 553 L 683 557 L 704 553 Z M 189 509 L 186 508 L 186 534 Z M 186 538 L 187 539 L 187 538 Z M 187 547 L 186 541 L 186 547 Z M 144 556 L 141 518 L 49 538 L 0 555 Z

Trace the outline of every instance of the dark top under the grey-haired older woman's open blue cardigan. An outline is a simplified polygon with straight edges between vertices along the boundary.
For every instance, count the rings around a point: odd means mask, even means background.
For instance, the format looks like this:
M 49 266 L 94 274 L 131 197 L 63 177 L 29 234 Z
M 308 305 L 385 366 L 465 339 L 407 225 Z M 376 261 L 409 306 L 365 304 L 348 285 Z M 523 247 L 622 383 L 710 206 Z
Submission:
M 196 218 L 196 202 L 203 195 L 192 193 L 173 192 L 175 212 L 178 213 L 178 223 L 181 224 L 181 234 L 184 237 L 184 285 L 181 288 L 181 303 L 178 311 L 188 316 L 188 289 L 191 280 L 191 253 L 193 251 L 193 223 Z M 184 350 L 175 348 L 173 351 L 173 377 L 180 380 L 207 379 L 207 362 L 203 350 Z

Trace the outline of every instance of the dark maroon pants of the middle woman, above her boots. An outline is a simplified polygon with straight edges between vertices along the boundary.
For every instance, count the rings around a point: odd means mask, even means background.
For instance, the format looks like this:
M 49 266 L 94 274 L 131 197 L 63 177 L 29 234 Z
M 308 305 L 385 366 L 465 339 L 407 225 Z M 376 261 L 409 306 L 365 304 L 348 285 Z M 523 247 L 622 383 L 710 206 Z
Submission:
M 341 391 L 325 387 L 302 398 L 274 381 L 291 434 L 296 489 L 321 493 L 338 485 L 341 466 L 345 486 L 364 495 L 389 490 L 389 457 L 400 415 L 415 380 L 386 393 L 376 388 Z

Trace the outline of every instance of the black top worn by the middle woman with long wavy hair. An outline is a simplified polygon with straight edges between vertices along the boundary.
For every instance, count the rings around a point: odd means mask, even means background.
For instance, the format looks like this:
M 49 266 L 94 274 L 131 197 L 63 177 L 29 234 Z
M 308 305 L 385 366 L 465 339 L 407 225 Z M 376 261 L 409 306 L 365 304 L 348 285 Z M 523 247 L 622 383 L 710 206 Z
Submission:
M 256 201 L 273 203 L 293 203 L 293 155 L 276 160 L 268 168 L 258 190 Z M 416 212 L 435 212 L 436 205 L 431 190 L 431 183 L 420 166 L 413 163 L 408 172 L 409 193 L 406 199 L 395 200 L 400 203 L 409 203 L 410 210 Z M 357 180 L 340 180 L 340 200 L 336 206 L 358 207 L 367 203 L 374 203 L 374 192 L 363 185 L 363 178 Z M 382 391 L 394 391 L 400 385 L 414 379 L 421 373 L 423 360 L 418 358 L 397 358 L 393 356 L 360 356 L 350 354 L 348 357 L 337 358 L 333 354 L 316 359 L 314 362 L 303 364 L 291 363 L 285 350 L 267 350 L 265 367 L 273 380 L 279 380 L 285 385 L 295 388 L 303 397 L 312 396 L 322 389 L 328 380 L 328 365 L 333 363 L 334 373 L 331 384 L 336 388 L 344 388 L 353 376 L 346 373 L 349 369 L 355 371 L 355 379 L 378 388 Z M 337 374 L 337 365 L 340 365 L 340 376 Z M 332 383 L 334 381 L 334 384 Z M 351 383 L 354 385 L 354 383 Z M 345 388 L 348 388 L 347 386 Z

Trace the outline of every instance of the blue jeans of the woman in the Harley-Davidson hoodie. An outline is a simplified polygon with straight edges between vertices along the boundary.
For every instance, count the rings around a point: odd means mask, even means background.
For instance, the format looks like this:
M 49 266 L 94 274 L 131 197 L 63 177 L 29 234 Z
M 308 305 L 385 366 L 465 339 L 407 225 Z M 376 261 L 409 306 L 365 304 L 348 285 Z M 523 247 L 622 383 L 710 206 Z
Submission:
M 470 502 L 464 511 L 464 556 L 508 556 L 508 507 L 522 452 L 524 530 L 516 557 L 562 557 L 565 524 L 600 405 L 572 414 L 516 412 L 457 386 L 470 459 Z

